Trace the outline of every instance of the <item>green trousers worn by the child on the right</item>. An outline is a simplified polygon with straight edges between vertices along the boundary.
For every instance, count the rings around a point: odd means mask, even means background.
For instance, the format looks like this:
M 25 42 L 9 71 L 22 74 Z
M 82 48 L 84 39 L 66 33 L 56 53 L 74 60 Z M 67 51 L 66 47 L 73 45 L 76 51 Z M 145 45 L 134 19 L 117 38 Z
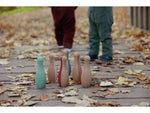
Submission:
M 102 42 L 102 55 L 113 56 L 111 26 L 113 24 L 112 7 L 89 7 L 89 54 L 99 54 Z

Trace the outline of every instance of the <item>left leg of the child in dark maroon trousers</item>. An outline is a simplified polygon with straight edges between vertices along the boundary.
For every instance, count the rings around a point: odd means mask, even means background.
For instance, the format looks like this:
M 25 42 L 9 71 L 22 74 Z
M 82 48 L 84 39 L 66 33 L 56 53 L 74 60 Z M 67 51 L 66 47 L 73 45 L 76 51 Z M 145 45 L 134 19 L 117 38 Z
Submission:
M 55 26 L 55 38 L 57 41 L 58 46 L 63 46 L 63 38 L 64 38 L 64 30 L 61 20 L 64 15 L 63 8 L 55 7 L 52 8 L 52 15 L 54 19 L 54 26 Z

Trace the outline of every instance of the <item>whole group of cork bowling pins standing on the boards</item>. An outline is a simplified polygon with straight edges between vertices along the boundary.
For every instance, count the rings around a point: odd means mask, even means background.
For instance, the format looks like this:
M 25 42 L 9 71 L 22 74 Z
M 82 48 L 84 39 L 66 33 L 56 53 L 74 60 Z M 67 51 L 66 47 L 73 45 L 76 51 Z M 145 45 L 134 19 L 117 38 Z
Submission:
M 74 53 L 74 65 L 71 73 L 71 65 L 68 59 L 68 51 L 64 51 L 63 56 L 61 56 L 61 66 L 57 76 L 55 69 L 55 56 L 50 54 L 49 56 L 49 67 L 47 71 L 48 81 L 50 83 L 55 83 L 58 77 L 58 83 L 60 87 L 65 87 L 68 85 L 69 75 L 72 75 L 73 80 L 78 83 L 81 81 L 83 87 L 89 87 L 91 83 L 91 72 L 90 72 L 90 57 L 85 56 L 84 58 L 84 69 L 82 71 L 80 65 L 80 54 Z M 46 75 L 43 68 L 43 58 L 38 57 L 37 59 L 38 68 L 36 72 L 36 86 L 37 88 L 44 88 L 46 84 Z

